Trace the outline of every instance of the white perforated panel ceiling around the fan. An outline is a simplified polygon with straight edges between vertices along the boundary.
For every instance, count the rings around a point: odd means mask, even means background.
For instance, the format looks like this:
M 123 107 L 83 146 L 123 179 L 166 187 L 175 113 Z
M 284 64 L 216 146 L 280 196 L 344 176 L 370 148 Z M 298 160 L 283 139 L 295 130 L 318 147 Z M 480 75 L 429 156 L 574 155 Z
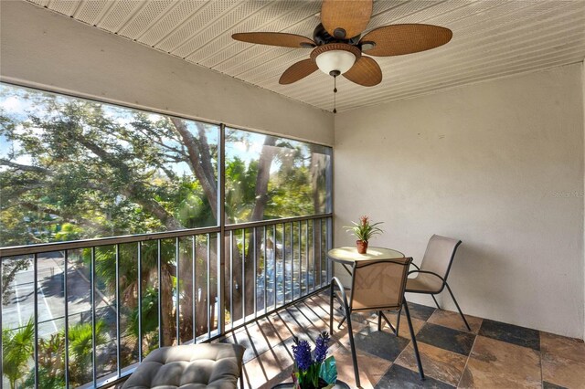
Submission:
M 303 48 L 234 41 L 237 32 L 313 37 L 314 0 L 28 0 L 80 22 L 212 68 L 324 110 L 333 79 L 324 73 L 280 85 L 282 72 L 308 58 Z M 585 58 L 585 0 L 378 0 L 367 31 L 399 23 L 452 29 L 445 46 L 379 58 L 383 80 L 361 87 L 339 78 L 337 110 L 351 110 L 433 90 L 575 63 Z

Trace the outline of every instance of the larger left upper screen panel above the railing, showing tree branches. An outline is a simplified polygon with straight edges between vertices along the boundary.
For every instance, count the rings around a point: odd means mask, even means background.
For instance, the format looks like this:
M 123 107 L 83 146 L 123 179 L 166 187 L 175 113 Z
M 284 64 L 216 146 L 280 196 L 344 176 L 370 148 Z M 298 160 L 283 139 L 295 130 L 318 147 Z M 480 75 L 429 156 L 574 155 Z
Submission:
M 1 247 L 217 225 L 218 125 L 0 92 Z

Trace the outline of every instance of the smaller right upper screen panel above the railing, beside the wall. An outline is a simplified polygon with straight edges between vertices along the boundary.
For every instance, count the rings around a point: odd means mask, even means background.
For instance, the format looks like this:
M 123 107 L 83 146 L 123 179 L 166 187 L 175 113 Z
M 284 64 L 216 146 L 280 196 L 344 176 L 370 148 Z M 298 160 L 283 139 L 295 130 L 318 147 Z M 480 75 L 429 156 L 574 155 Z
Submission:
M 331 149 L 226 130 L 228 224 L 331 212 Z

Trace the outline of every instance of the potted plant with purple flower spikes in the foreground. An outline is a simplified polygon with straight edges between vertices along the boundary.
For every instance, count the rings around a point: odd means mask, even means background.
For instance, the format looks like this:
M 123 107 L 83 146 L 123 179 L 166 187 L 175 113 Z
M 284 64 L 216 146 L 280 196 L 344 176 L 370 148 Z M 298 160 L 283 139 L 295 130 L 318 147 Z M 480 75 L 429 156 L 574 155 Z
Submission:
M 329 334 L 321 332 L 315 341 L 314 352 L 307 341 L 299 341 L 293 337 L 294 370 L 293 383 L 295 389 L 329 389 L 337 381 L 335 358 L 327 358 Z

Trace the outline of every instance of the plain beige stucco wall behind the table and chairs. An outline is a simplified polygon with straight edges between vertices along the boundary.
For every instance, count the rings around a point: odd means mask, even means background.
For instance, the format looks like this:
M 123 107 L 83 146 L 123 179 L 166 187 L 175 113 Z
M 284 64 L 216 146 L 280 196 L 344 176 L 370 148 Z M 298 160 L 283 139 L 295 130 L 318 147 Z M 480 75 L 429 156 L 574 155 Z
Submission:
M 371 244 L 417 263 L 432 234 L 458 237 L 450 285 L 466 313 L 582 338 L 582 68 L 338 114 L 335 246 L 364 214 L 385 222 Z

